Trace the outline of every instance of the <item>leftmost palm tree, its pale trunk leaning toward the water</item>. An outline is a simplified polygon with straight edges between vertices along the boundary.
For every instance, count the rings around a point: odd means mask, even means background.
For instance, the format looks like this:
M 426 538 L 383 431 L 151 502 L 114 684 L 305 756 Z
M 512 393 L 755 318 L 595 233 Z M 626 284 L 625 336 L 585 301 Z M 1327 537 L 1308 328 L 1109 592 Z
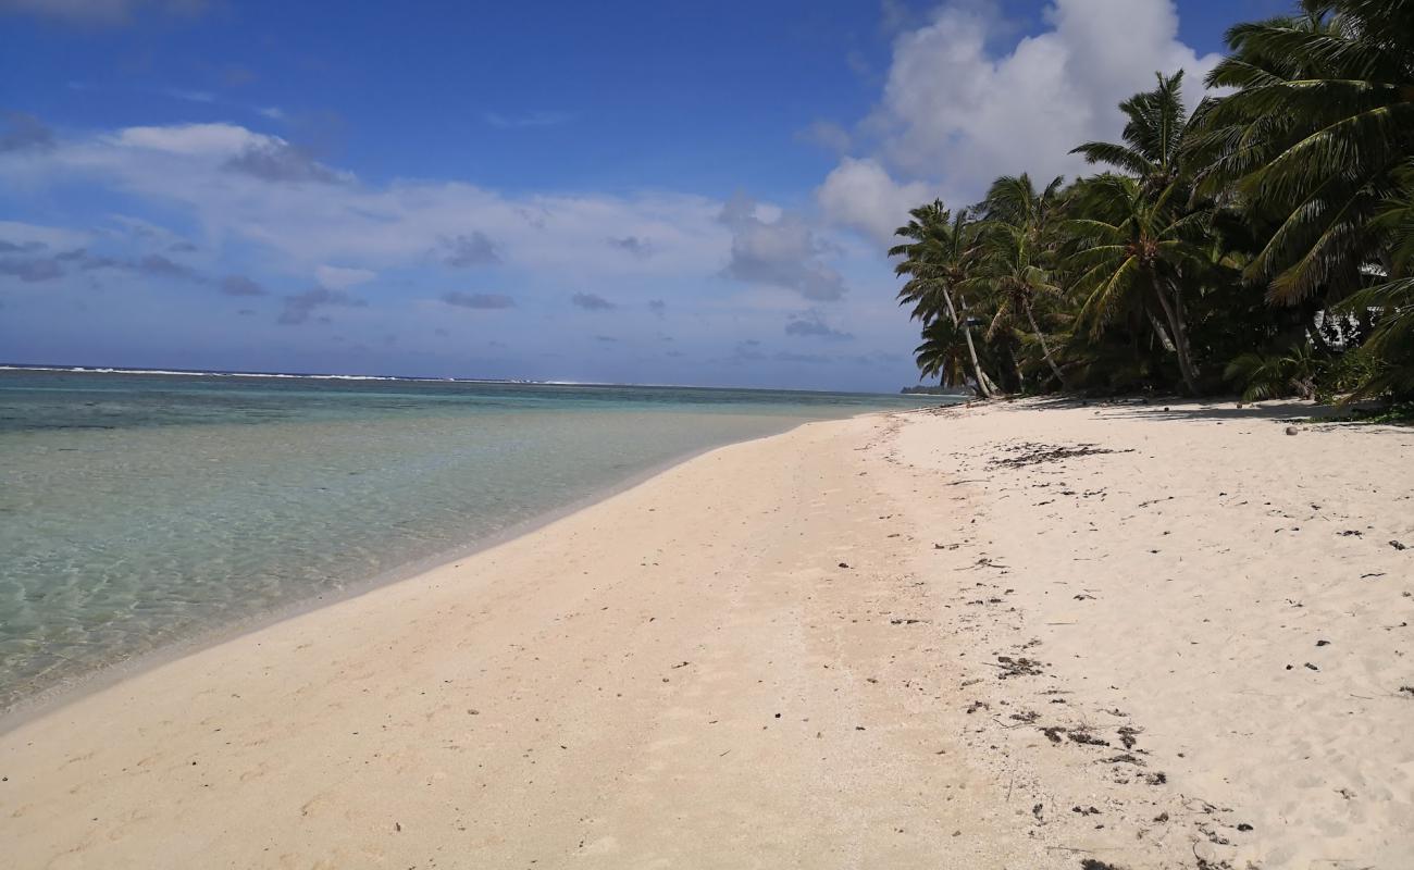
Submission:
M 912 317 L 923 321 L 925 332 L 928 325 L 946 313 L 953 330 L 960 331 L 966 340 L 977 390 L 984 398 L 991 399 L 995 385 L 987 378 L 987 372 L 983 371 L 981 362 L 977 359 L 971 324 L 963 320 L 966 306 L 959 314 L 959 306 L 953 300 L 954 289 L 966 277 L 971 259 L 974 231 L 967 211 L 960 209 L 953 216 L 943 207 L 942 199 L 933 199 L 928 205 L 909 211 L 909 222 L 894 231 L 894 235 L 911 240 L 895 245 L 888 252 L 891 257 L 904 257 L 894 267 L 894 273 L 901 277 L 909 276 L 898 293 L 899 304 L 913 306 Z M 937 371 L 928 373 L 937 373 Z

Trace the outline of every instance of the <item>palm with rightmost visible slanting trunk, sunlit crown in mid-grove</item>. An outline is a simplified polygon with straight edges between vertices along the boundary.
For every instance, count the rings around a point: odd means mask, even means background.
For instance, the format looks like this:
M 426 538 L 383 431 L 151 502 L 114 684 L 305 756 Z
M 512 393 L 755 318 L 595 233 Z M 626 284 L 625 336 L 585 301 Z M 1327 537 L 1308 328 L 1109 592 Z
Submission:
M 1175 205 L 1179 182 L 1150 195 L 1144 184 L 1126 175 L 1087 180 L 1086 214 L 1066 222 L 1075 239 L 1068 266 L 1077 274 L 1083 297 L 1079 317 L 1099 334 L 1127 306 L 1143 307 L 1165 348 L 1178 358 L 1184 386 L 1199 392 L 1198 366 L 1188 337 L 1184 286 L 1203 267 L 1206 212 L 1184 212 Z M 1157 304 L 1162 323 L 1151 307 Z

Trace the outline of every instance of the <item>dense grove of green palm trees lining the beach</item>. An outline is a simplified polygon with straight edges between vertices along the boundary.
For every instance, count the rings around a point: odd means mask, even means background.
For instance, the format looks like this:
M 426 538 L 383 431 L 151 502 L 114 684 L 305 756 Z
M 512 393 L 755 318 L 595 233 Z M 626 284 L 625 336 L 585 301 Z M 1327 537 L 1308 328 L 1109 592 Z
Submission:
M 1307 0 L 1120 103 L 1097 174 L 997 178 L 889 250 L 925 376 L 1055 390 L 1414 399 L 1414 0 Z

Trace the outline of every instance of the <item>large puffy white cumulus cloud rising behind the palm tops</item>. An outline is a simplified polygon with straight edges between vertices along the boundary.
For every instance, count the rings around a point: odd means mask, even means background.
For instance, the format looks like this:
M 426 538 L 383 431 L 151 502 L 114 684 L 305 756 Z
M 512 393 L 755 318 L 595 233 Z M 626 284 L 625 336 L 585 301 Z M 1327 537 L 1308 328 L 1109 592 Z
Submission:
M 1155 72 L 1184 69 L 1196 88 L 1217 62 L 1179 41 L 1172 0 L 1055 0 L 1042 16 L 1041 33 L 1015 38 L 994 7 L 957 0 L 901 33 L 863 123 L 871 156 L 840 163 L 822 209 L 882 239 L 902 201 L 930 198 L 919 182 L 964 204 L 1001 174 L 1073 175 L 1086 167 L 1068 151 L 1116 139 L 1118 102 Z

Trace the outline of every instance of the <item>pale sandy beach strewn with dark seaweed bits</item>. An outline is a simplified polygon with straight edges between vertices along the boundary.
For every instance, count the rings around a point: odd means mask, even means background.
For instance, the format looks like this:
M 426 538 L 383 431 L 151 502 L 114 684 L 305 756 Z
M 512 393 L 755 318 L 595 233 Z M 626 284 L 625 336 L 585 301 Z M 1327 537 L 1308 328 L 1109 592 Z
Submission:
M 0 864 L 1411 867 L 1414 431 L 1308 413 L 704 454 L 4 734 Z

